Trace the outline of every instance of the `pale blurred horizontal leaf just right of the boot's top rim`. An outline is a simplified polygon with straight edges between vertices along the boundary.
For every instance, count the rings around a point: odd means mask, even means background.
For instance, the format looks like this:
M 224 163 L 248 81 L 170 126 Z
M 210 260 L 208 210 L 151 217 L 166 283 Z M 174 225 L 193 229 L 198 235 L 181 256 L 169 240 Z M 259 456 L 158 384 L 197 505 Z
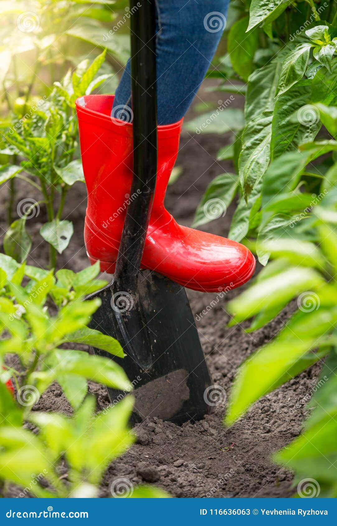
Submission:
M 225 101 L 226 103 L 226 101 Z M 228 108 L 223 101 L 218 101 L 218 108 L 212 112 L 198 115 L 189 120 L 185 128 L 194 133 L 219 133 L 227 131 L 239 131 L 244 125 L 243 112 L 238 108 Z M 228 103 L 230 104 L 230 102 Z

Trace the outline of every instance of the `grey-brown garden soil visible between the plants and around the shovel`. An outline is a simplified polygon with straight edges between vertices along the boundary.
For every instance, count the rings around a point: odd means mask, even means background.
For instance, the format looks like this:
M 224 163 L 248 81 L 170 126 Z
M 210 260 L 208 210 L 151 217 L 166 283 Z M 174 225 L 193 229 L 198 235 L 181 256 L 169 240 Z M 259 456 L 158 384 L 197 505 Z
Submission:
M 232 171 L 230 162 L 219 163 L 216 160 L 217 152 L 223 145 L 222 136 L 183 132 L 177 161 L 183 173 L 169 187 L 166 199 L 168 209 L 181 224 L 191 225 L 195 209 L 210 181 L 223 171 Z M 34 197 L 32 190 L 21 181 L 18 200 L 27 196 Z M 4 210 L 8 199 L 4 187 L 0 191 L 0 199 Z M 68 196 L 65 214 L 65 218 L 74 222 L 75 234 L 58 261 L 59 266 L 75 271 L 88 265 L 83 241 L 85 208 L 85 187 L 77 184 Z M 204 229 L 226 236 L 233 209 L 231 207 L 224 218 L 209 223 Z M 45 217 L 41 209 L 40 215 L 28 224 L 34 240 L 34 249 L 29 257 L 32 265 L 47 264 L 48 249 L 38 235 L 43 221 Z M 6 229 L 4 211 L 0 225 L 3 235 Z M 229 292 L 228 299 L 239 292 Z M 291 312 L 289 307 L 267 327 L 247 334 L 243 330 L 244 324 L 226 328 L 229 315 L 225 299 L 202 315 L 202 310 L 217 295 L 188 291 L 188 297 L 193 313 L 199 314 L 197 327 L 212 381 L 227 393 L 242 360 L 268 342 Z M 222 426 L 226 412 L 224 403 L 214 407 L 205 420 L 182 427 L 157 419 L 139 424 L 136 428 L 137 443 L 111 464 L 101 485 L 100 496 L 110 497 L 111 484 L 122 477 L 133 484 L 154 482 L 175 497 L 290 497 L 292 476 L 272 464 L 271 454 L 299 434 L 305 417 L 303 400 L 318 373 L 319 367 L 313 367 L 265 396 L 246 417 L 228 430 Z M 108 406 L 103 386 L 90 383 L 89 389 L 97 396 L 98 409 Z M 35 409 L 71 411 L 61 389 L 55 384 L 43 395 Z M 18 493 L 19 490 L 12 491 L 11 496 Z

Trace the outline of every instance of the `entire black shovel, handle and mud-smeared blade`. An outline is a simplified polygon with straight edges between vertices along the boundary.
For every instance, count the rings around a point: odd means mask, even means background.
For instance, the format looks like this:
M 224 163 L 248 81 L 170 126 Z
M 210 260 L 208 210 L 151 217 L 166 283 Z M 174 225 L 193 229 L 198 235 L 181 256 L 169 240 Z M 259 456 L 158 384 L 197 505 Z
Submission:
M 101 306 L 90 328 L 116 338 L 126 354 L 111 358 L 125 370 L 136 398 L 131 422 L 157 417 L 200 420 L 211 380 L 185 289 L 139 271 L 157 174 L 155 0 L 130 1 L 134 177 L 113 282 L 89 298 Z M 111 403 L 126 393 L 108 388 Z

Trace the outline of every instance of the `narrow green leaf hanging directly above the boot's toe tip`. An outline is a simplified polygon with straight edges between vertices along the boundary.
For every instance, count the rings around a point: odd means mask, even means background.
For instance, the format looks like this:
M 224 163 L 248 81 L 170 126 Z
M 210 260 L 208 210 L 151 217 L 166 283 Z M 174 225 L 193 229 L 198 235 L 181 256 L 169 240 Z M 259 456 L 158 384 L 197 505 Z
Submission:
M 260 187 L 261 184 L 258 184 L 248 196 L 248 204 L 246 204 L 243 196 L 239 200 L 236 211 L 232 217 L 228 234 L 229 239 L 241 241 L 246 237 L 250 229 L 250 221 L 254 219 L 254 215 L 257 214 L 260 209 Z

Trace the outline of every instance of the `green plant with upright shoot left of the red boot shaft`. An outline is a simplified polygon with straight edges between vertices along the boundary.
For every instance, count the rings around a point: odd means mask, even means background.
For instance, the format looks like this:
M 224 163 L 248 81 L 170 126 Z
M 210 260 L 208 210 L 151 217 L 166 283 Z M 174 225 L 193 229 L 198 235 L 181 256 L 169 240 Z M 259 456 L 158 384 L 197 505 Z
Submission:
M 83 60 L 73 74 L 69 69 L 62 82 L 55 82 L 45 102 L 41 100 L 24 118 L 14 120 L 4 133 L 7 147 L 2 151 L 13 155 L 16 161 L 23 160 L 19 165 L 1 167 L 0 183 L 23 179 L 34 191 L 38 190 L 41 197 L 21 201 L 22 206 L 17 207 L 20 217 L 6 232 L 5 253 L 18 262 L 26 259 L 32 246 L 26 230 L 27 218 L 38 213 L 42 203 L 46 206 L 48 221 L 40 228 L 40 234 L 49 243 L 50 268 L 55 267 L 57 252 L 62 254 L 73 235 L 72 222 L 62 220 L 62 213 L 70 186 L 84 181 L 81 161 L 74 159 L 78 135 L 75 100 L 91 93 L 110 76 L 96 77 L 105 54 L 104 51 L 98 55 L 90 65 L 89 59 Z

